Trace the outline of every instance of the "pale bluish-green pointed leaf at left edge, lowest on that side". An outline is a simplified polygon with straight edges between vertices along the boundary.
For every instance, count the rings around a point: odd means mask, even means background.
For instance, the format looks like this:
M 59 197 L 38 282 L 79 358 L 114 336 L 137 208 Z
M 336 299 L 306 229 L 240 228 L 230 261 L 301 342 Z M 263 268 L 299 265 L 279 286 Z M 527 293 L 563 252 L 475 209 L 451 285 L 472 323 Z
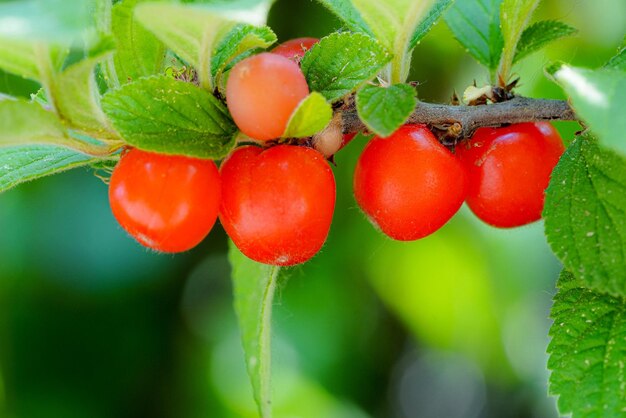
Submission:
M 55 145 L 0 147 L 0 192 L 96 161 L 88 155 Z

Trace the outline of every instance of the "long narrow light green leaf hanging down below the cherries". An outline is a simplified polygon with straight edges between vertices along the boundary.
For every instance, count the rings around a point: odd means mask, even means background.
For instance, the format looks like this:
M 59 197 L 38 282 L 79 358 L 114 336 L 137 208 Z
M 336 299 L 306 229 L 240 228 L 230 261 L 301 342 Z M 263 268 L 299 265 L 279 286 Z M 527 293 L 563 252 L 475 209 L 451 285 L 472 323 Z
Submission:
M 262 418 L 271 409 L 272 304 L 280 267 L 259 264 L 244 256 L 229 242 L 235 311 L 243 343 L 254 399 Z

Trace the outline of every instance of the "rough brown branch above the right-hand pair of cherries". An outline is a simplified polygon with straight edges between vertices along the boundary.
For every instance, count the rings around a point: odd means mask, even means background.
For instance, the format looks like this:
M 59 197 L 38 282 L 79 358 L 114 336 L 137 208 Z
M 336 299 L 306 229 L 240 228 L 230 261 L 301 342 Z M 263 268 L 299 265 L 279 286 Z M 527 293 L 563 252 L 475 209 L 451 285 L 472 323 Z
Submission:
M 343 132 L 367 131 L 354 103 L 342 112 Z M 469 138 L 478 128 L 542 120 L 578 120 L 566 101 L 515 97 L 511 100 L 479 106 L 453 106 L 419 102 L 408 123 L 423 123 L 444 144 Z

